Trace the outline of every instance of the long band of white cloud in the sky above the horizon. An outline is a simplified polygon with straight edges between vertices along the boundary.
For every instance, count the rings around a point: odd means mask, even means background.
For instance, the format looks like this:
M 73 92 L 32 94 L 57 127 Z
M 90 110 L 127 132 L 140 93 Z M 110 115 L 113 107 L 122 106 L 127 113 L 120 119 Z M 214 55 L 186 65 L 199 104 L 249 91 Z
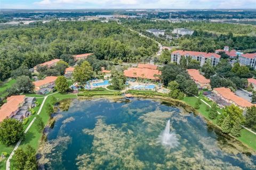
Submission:
M 1 0 L 0 0 L 1 1 Z M 35 0 L 47 8 L 256 8 L 256 0 Z

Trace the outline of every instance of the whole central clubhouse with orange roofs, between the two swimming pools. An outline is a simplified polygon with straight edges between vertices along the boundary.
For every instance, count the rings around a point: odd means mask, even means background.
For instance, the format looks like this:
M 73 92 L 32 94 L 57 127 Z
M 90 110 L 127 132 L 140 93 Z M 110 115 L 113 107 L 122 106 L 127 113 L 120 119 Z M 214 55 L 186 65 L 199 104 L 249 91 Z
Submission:
M 127 78 L 132 79 L 147 79 L 159 81 L 159 76 L 162 72 L 157 70 L 157 66 L 153 64 L 139 64 L 138 67 L 131 67 L 124 71 L 124 75 Z

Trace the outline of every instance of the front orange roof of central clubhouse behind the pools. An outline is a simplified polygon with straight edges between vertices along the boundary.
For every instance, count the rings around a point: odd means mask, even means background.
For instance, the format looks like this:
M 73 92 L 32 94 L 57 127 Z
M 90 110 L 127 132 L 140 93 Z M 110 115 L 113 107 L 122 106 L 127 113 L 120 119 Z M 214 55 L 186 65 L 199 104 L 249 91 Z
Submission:
M 134 73 L 136 73 L 136 75 L 134 75 Z M 135 68 L 135 67 L 131 67 L 128 70 L 124 71 L 125 77 L 159 80 L 158 77 L 154 77 L 155 74 L 161 75 L 162 72 L 159 70 L 153 70 L 153 69 L 147 69 L 147 68 Z M 142 77 L 142 75 L 143 75 L 143 77 Z

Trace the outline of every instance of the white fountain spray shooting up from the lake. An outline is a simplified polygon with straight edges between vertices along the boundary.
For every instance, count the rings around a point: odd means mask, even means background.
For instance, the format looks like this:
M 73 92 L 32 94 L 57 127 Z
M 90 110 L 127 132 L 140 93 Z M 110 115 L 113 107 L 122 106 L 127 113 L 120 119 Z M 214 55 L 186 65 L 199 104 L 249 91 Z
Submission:
M 167 149 L 172 149 L 179 145 L 175 132 L 170 132 L 170 120 L 167 121 L 164 131 L 159 135 L 158 142 Z

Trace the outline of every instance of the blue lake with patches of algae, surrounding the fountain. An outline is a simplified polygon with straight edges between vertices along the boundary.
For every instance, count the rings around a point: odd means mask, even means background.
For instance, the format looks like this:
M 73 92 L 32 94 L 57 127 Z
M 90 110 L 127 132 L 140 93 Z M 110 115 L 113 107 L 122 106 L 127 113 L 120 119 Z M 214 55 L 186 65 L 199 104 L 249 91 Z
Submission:
M 74 100 L 58 117 L 41 151 L 45 169 L 256 168 L 255 156 L 230 147 L 204 118 L 166 103 Z M 172 149 L 158 142 L 167 120 L 179 142 Z

